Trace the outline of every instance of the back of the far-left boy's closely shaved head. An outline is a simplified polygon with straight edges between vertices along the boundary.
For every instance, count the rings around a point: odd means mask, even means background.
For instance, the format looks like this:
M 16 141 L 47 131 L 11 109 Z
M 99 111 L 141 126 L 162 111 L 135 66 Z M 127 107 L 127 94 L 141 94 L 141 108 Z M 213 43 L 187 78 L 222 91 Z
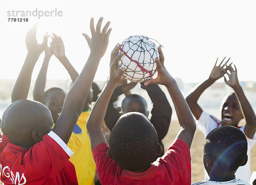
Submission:
M 51 129 L 49 125 L 52 123 L 51 112 L 42 103 L 17 100 L 4 111 L 1 129 L 12 143 L 23 146 L 26 142 L 32 142 L 32 131 L 35 128 L 42 131 L 42 134 Z

